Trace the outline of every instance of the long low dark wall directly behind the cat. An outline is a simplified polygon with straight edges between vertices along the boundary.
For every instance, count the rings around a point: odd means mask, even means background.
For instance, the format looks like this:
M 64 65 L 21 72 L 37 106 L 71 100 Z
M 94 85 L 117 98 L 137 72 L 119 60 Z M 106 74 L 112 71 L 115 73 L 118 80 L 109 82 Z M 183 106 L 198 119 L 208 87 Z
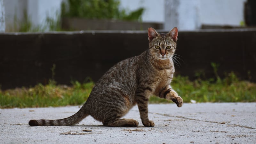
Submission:
M 164 32 L 164 31 L 163 31 Z M 167 32 L 167 31 L 166 31 Z M 47 84 L 56 64 L 55 80 L 70 84 L 95 82 L 110 67 L 148 49 L 146 31 L 80 31 L 0 34 L 0 85 L 2 89 Z M 256 82 L 256 29 L 179 32 L 175 75 L 215 77 L 234 71 Z M 248 75 L 248 72 L 250 74 Z

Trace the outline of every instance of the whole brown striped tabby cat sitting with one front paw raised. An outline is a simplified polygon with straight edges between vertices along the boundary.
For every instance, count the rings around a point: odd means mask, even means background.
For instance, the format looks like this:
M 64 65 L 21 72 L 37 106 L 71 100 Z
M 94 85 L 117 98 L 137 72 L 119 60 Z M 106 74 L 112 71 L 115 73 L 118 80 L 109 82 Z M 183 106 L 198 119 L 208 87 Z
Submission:
M 174 73 L 173 55 L 178 29 L 159 34 L 148 28 L 149 49 L 139 56 L 120 61 L 95 84 L 83 107 L 68 118 L 59 120 L 30 120 L 30 126 L 74 125 L 91 115 L 105 126 L 138 126 L 133 119 L 120 119 L 138 105 L 144 126 L 154 126 L 148 119 L 148 98 L 154 94 L 172 100 L 181 107 L 183 100 L 170 83 Z

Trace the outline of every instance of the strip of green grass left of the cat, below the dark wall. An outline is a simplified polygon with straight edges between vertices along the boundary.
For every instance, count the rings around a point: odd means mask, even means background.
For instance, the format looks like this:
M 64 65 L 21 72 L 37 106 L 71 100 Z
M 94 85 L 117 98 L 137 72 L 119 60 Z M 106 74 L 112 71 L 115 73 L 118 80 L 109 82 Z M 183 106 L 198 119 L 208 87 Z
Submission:
M 89 97 L 94 83 L 80 84 L 76 81 L 72 84 L 72 87 L 38 84 L 31 88 L 0 91 L 0 108 L 81 105 Z

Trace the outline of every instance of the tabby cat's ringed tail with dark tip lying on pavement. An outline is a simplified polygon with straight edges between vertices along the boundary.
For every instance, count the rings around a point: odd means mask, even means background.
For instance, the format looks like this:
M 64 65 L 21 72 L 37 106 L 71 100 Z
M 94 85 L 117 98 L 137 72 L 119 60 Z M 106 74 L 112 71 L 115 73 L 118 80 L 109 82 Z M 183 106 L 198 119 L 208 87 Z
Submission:
M 76 112 L 74 115 L 69 116 L 63 119 L 56 119 L 56 120 L 48 120 L 48 119 L 40 119 L 40 120 L 30 120 L 28 124 L 30 126 L 43 126 L 43 125 L 74 125 L 79 123 L 89 114 L 86 113 L 85 107 L 83 106 Z

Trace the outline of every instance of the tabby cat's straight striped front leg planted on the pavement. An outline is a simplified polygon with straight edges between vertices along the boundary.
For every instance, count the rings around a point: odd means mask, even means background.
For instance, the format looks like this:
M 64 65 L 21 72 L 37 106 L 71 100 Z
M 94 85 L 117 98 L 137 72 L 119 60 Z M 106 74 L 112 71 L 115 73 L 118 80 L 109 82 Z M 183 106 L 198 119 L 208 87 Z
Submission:
M 142 124 L 144 126 L 155 126 L 154 122 L 148 119 L 148 97 L 147 92 L 138 91 L 135 94 Z

